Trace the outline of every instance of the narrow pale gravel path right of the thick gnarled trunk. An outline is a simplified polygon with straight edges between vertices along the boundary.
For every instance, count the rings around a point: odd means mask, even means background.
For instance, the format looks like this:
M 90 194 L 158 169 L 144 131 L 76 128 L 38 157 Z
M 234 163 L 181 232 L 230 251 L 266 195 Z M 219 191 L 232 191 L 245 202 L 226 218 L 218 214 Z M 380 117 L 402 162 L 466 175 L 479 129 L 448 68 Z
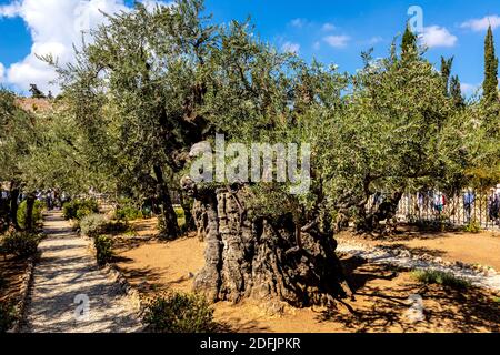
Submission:
M 474 268 L 461 262 L 444 262 L 440 257 L 411 254 L 404 247 L 369 246 L 357 242 L 340 242 L 337 251 L 370 263 L 396 265 L 408 270 L 436 270 L 453 274 L 472 285 L 500 292 L 500 274 L 489 267 Z

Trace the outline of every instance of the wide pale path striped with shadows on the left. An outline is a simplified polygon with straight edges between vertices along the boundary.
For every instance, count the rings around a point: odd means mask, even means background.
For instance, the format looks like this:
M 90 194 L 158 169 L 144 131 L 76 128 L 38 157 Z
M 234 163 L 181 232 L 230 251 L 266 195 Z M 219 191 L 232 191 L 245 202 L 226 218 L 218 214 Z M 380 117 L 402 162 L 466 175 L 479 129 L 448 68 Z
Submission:
M 42 255 L 36 266 L 22 332 L 140 331 L 132 302 L 97 268 L 88 242 L 71 231 L 60 213 L 46 216 L 44 232 L 48 236 L 39 246 Z M 88 312 L 77 313 L 83 310 L 86 300 Z

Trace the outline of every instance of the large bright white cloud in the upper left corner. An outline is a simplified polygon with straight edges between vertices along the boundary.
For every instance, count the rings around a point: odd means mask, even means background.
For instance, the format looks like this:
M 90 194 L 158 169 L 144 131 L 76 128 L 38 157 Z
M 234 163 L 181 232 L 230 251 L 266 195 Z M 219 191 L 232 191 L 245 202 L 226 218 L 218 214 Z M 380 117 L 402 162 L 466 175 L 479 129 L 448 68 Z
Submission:
M 154 3 L 153 0 L 142 2 L 150 9 Z M 101 11 L 116 13 L 121 10 L 128 10 L 123 0 L 18 0 L 1 6 L 0 19 L 20 17 L 32 40 L 30 54 L 4 69 L 4 81 L 22 91 L 36 83 L 42 91 L 58 93 L 59 88 L 50 83 L 57 79 L 53 69 L 37 54 L 52 54 L 61 64 L 73 61 L 72 47 L 81 43 L 82 31 L 88 32 L 106 21 Z

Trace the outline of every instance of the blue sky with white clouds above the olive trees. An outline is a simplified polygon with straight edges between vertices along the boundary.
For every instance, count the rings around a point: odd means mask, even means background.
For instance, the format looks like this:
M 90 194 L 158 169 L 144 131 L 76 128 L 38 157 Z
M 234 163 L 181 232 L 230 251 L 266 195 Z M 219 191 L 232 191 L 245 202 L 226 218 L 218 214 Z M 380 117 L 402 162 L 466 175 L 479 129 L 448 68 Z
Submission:
M 152 3 L 154 0 L 142 0 Z M 42 89 L 53 73 L 38 63 L 36 53 L 53 52 L 61 61 L 71 60 L 71 43 L 79 37 L 74 24 L 94 27 L 102 21 L 97 9 L 108 12 L 129 7 L 129 0 L 0 0 L 0 81 L 23 92 L 29 82 Z M 282 50 L 297 51 L 336 63 L 353 72 L 361 65 L 360 52 L 371 47 L 376 57 L 387 55 L 394 36 L 409 19 L 408 9 L 423 10 L 423 39 L 429 60 L 439 67 L 440 55 L 454 55 L 454 73 L 471 93 L 483 79 L 483 38 L 491 23 L 499 32 L 498 0 L 207 0 L 207 11 L 216 22 L 244 20 L 251 16 L 260 37 Z M 500 49 L 499 49 L 500 50 Z

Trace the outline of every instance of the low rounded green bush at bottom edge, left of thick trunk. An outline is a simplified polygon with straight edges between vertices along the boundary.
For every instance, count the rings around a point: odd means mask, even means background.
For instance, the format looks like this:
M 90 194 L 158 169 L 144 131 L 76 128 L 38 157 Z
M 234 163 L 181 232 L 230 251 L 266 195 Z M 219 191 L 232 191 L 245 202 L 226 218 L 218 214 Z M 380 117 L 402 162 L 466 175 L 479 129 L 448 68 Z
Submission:
M 213 308 L 194 294 L 170 293 L 146 305 L 144 322 L 153 333 L 210 333 L 216 329 Z

